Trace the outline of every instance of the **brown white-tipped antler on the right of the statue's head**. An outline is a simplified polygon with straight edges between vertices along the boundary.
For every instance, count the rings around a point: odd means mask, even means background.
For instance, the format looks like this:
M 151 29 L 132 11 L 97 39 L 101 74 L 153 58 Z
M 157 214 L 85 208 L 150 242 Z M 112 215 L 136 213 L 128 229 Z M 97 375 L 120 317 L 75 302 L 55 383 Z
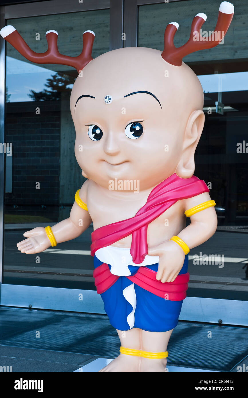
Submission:
M 182 59 L 187 54 L 217 46 L 227 33 L 233 14 L 234 6 L 226 1 L 222 2 L 219 8 L 215 31 L 209 37 L 202 37 L 200 33 L 200 29 L 207 19 L 206 14 L 197 14 L 191 24 L 189 40 L 182 47 L 178 48 L 174 46 L 173 39 L 179 25 L 177 22 L 169 23 L 164 32 L 162 58 L 172 65 L 181 66 Z

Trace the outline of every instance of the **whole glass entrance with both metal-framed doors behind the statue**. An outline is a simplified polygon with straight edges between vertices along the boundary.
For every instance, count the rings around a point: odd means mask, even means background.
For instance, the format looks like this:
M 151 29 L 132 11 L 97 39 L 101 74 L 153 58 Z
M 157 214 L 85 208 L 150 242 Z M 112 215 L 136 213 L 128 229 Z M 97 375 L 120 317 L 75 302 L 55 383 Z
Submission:
M 175 20 L 180 23 L 174 39 L 178 47 L 189 37 L 195 14 L 206 12 L 204 29 L 211 31 L 219 9 L 219 0 L 207 0 L 203 6 L 198 0 L 125 0 L 124 7 L 121 0 L 46 4 L 47 15 L 44 2 L 2 8 L 1 27 L 6 22 L 14 25 L 39 52 L 47 48 L 45 32 L 55 29 L 59 50 L 72 56 L 82 51 L 82 33 L 93 30 L 93 57 L 136 45 L 162 51 L 164 29 Z M 204 90 L 205 127 L 195 154 L 195 175 L 207 183 L 215 199 L 218 228 L 191 250 L 189 289 L 180 318 L 248 325 L 248 51 L 243 39 L 248 5 L 239 0 L 234 7 L 225 45 L 184 59 Z M 8 44 L 4 54 L 3 40 L 0 45 L 1 142 L 12 144 L 11 155 L 0 152 L 1 304 L 104 313 L 92 277 L 92 226 L 38 255 L 22 254 L 16 247 L 23 232 L 67 218 L 84 181 L 74 157 L 69 107 L 76 72 L 30 63 Z M 223 103 L 223 114 L 216 111 L 216 102 Z

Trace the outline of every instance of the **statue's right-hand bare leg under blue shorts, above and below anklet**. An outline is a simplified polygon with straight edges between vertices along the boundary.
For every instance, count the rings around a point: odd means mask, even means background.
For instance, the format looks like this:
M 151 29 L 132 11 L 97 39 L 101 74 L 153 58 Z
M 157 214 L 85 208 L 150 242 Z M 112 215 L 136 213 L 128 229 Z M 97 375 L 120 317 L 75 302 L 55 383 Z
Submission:
M 148 352 L 164 352 L 167 351 L 167 345 L 172 334 L 172 330 L 168 332 L 147 332 L 141 330 L 142 350 Z M 164 359 L 147 359 L 141 358 L 140 372 L 165 372 L 167 358 Z

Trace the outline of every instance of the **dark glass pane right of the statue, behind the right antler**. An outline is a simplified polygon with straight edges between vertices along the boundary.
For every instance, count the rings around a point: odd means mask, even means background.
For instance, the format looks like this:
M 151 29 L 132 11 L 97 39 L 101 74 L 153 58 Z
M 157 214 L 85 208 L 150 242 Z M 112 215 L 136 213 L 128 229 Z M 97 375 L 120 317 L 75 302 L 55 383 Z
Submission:
M 174 43 L 186 43 L 193 17 L 207 14 L 213 31 L 219 2 L 176 1 L 139 6 L 138 45 L 164 48 L 164 30 L 179 23 Z M 248 299 L 248 3 L 235 5 L 223 45 L 184 58 L 204 91 L 205 127 L 195 153 L 195 175 L 216 202 L 217 232 L 189 253 L 189 296 Z M 217 113 L 216 102 L 223 104 Z M 215 256 L 215 257 L 213 257 Z

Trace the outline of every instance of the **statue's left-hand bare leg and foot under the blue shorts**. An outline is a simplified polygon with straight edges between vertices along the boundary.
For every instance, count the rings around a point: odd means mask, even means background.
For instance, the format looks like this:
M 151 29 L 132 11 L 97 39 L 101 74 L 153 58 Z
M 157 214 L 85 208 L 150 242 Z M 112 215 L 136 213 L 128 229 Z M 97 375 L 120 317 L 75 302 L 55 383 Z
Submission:
M 141 349 L 141 329 L 133 328 L 131 330 L 117 330 L 121 345 L 126 348 Z M 99 372 L 139 372 L 141 365 L 140 357 L 119 354 L 117 358 L 105 366 Z

